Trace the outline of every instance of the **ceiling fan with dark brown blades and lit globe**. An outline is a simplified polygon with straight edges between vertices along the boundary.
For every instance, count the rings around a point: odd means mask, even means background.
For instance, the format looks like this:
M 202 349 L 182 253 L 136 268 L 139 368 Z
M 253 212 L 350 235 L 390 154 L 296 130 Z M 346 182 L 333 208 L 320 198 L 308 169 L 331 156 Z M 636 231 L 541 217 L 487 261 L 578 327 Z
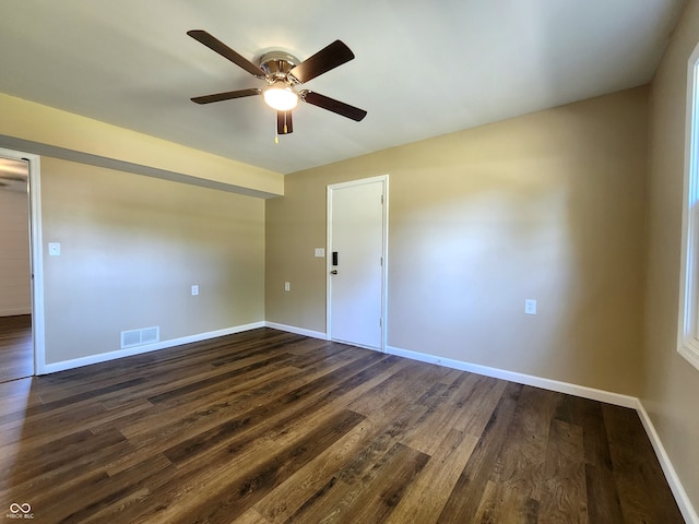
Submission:
M 333 41 L 303 62 L 287 52 L 270 51 L 262 55 L 259 59 L 259 66 L 256 66 L 205 31 L 192 29 L 187 34 L 239 68 L 245 69 L 248 73 L 266 82 L 266 86 L 262 88 L 251 87 L 197 96 L 191 99 L 197 104 L 262 95 L 264 102 L 276 110 L 277 134 L 288 134 L 294 131 L 292 109 L 296 107 L 299 99 L 357 122 L 367 116 L 367 111 L 364 109 L 344 102 L 335 100 L 310 90 L 297 90 L 299 84 L 354 59 L 354 53 L 341 40 Z

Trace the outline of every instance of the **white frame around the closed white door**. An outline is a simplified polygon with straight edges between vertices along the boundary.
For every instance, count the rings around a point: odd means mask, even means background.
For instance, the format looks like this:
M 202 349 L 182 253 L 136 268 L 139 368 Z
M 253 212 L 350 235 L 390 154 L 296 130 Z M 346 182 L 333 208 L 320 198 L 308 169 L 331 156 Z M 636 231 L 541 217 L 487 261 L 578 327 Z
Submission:
M 388 269 L 389 269 L 389 176 L 380 175 L 378 177 L 362 178 L 351 180 L 348 182 L 332 183 L 328 186 L 327 196 L 327 218 L 325 218 L 325 333 L 328 340 L 332 340 L 332 293 L 331 293 L 331 274 L 332 271 L 332 192 L 336 189 L 350 188 L 354 186 L 363 186 L 375 182 L 383 183 L 383 224 L 382 224 L 382 253 L 383 264 L 381 265 L 381 353 L 386 352 L 388 336 Z

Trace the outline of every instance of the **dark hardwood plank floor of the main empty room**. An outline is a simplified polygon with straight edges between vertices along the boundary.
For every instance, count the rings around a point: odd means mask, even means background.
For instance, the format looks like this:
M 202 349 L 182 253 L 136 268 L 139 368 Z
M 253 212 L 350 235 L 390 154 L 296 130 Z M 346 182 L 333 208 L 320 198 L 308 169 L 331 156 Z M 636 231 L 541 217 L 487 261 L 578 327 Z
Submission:
M 0 395 L 40 523 L 683 522 L 631 409 L 269 329 Z

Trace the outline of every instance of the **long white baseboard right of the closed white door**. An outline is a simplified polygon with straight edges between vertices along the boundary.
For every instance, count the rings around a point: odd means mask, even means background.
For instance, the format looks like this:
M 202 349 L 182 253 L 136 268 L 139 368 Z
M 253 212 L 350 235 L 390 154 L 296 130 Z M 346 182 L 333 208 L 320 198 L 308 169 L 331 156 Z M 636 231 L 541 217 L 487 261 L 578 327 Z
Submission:
M 446 366 L 448 368 L 460 369 L 461 371 L 470 371 L 472 373 L 485 374 L 486 377 L 509 380 L 510 382 L 518 382 L 520 384 L 533 385 L 535 388 L 557 391 L 558 393 L 567 393 L 569 395 L 582 396 L 583 398 L 606 402 L 607 404 L 614 404 L 617 406 L 631 407 L 633 409 L 636 409 L 636 407 L 638 406 L 637 397 L 623 395 L 620 393 L 613 393 L 611 391 L 595 390 L 594 388 L 588 388 L 584 385 L 570 384 L 568 382 L 560 382 L 558 380 L 552 379 L 543 379 L 541 377 L 517 373 L 514 371 L 507 371 L 505 369 L 489 368 L 487 366 L 464 362 L 462 360 L 454 360 L 451 358 L 437 357 L 435 355 L 412 352 L 408 349 L 401 349 L 393 346 L 387 346 L 386 353 L 390 355 L 398 355 L 400 357 L 411 358 L 413 360 L 419 360 L 420 362 L 437 364 L 439 366 Z

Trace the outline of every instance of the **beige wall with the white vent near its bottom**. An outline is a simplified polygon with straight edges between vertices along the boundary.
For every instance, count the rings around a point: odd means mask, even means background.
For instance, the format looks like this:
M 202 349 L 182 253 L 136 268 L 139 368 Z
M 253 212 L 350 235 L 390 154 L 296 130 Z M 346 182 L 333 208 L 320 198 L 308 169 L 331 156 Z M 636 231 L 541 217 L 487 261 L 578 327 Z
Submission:
M 47 364 L 264 320 L 263 200 L 50 157 L 42 199 Z

